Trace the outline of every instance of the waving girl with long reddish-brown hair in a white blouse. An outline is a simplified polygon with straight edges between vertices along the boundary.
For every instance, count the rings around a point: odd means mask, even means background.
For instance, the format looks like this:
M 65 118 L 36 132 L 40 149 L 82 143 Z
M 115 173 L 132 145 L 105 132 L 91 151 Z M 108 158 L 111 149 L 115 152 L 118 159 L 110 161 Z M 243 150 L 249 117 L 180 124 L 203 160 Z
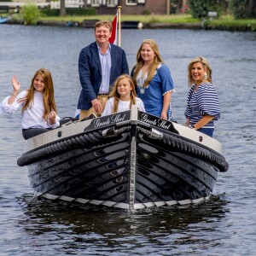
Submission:
M 1 102 L 3 113 L 15 113 L 21 108 L 22 135 L 25 139 L 34 137 L 60 125 L 56 114 L 54 87 L 49 70 L 39 69 L 28 90 L 20 90 L 20 82 L 12 79 L 13 93 Z

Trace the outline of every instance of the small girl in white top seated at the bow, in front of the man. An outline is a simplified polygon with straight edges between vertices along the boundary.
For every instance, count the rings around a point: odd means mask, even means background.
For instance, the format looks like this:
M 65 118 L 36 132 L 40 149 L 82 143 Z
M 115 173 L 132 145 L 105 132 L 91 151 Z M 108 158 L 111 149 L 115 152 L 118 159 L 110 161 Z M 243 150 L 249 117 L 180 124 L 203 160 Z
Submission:
M 139 110 L 145 112 L 143 101 L 137 97 L 131 76 L 127 74 L 120 75 L 115 80 L 109 96 L 102 116 L 127 111 L 131 109 L 131 105 L 137 105 Z

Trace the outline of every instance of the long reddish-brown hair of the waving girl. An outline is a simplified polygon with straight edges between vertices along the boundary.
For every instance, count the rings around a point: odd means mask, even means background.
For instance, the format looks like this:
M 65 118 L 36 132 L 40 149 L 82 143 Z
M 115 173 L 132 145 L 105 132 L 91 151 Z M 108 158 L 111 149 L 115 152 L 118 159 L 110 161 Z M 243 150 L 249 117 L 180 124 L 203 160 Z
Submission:
M 57 108 L 55 104 L 55 90 L 53 86 L 53 81 L 51 78 L 51 74 L 48 69 L 40 68 L 33 76 L 32 83 L 30 85 L 29 90 L 27 90 L 26 97 L 23 99 L 24 105 L 22 111 L 26 110 L 27 108 L 31 108 L 34 95 L 35 95 L 35 88 L 34 88 L 34 80 L 37 78 L 38 75 L 41 75 L 44 79 L 44 114 L 43 119 L 47 120 L 47 115 L 51 111 L 55 111 L 57 113 Z

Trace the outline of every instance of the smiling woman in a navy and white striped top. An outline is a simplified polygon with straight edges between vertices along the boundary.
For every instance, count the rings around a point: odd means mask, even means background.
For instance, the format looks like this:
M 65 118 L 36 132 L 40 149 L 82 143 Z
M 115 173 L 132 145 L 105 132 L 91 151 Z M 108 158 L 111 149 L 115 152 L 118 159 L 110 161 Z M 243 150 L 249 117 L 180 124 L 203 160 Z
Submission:
M 189 90 L 185 125 L 213 136 L 213 120 L 220 117 L 218 95 L 212 85 L 212 68 L 207 59 L 196 57 L 188 66 Z

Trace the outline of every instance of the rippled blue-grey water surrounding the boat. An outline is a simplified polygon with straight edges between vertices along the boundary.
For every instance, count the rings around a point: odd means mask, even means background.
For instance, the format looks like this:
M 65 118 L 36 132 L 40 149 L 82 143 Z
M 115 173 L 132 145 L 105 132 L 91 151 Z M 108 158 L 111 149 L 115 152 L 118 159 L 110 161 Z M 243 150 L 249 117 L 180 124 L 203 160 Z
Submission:
M 172 71 L 174 118 L 183 123 L 187 65 L 196 55 L 212 65 L 222 116 L 215 137 L 230 170 L 219 173 L 210 201 L 187 207 L 124 212 L 33 201 L 20 113 L 0 116 L 0 255 L 256 255 L 256 34 L 193 30 L 123 30 L 130 69 L 144 38 L 154 38 Z M 79 96 L 79 51 L 93 30 L 0 26 L 0 99 L 18 76 L 26 89 L 49 68 L 61 117 L 73 116 Z

